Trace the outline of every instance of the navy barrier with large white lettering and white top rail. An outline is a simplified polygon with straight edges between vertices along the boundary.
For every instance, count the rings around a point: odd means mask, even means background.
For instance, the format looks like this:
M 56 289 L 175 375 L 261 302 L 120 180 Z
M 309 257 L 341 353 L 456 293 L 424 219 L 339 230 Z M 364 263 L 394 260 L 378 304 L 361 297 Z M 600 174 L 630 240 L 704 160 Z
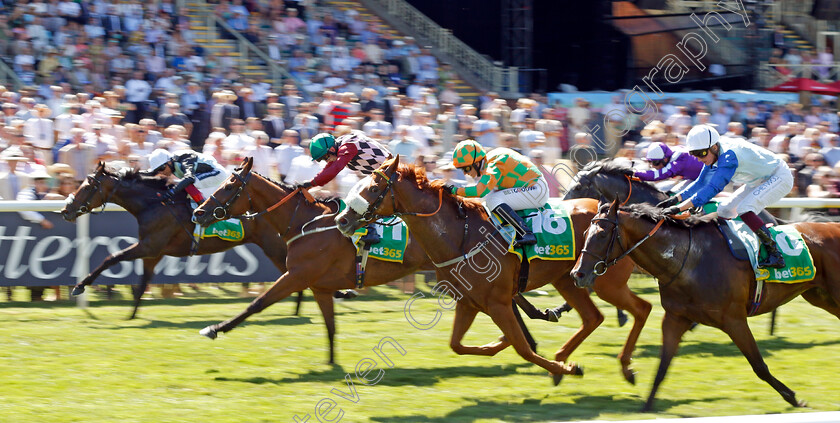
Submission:
M 108 255 L 137 241 L 137 221 L 109 204 L 105 212 L 68 223 L 57 213 L 63 201 L 0 201 L 0 286 L 73 285 Z M 773 208 L 840 208 L 840 199 L 783 198 Z M 41 212 L 52 229 L 24 220 L 20 211 Z M 101 284 L 133 284 L 141 260 L 116 264 L 97 278 Z M 268 282 L 280 275 L 255 245 L 192 257 L 169 257 L 155 268 L 155 283 Z

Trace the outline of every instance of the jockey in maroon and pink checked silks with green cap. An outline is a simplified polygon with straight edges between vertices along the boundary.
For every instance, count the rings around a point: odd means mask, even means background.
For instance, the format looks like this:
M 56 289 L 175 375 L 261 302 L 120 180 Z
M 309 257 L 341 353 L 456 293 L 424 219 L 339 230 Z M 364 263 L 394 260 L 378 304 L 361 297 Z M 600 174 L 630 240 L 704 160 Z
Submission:
M 370 175 L 391 158 L 391 152 L 378 141 L 368 137 L 362 131 L 351 131 L 335 139 L 328 133 L 321 133 L 309 143 L 312 160 L 326 161 L 327 165 L 311 181 L 298 184 L 307 189 L 324 186 L 332 181 L 345 167 L 363 175 Z M 367 234 L 361 241 L 366 244 L 379 242 L 379 234 L 373 223 L 367 226 Z

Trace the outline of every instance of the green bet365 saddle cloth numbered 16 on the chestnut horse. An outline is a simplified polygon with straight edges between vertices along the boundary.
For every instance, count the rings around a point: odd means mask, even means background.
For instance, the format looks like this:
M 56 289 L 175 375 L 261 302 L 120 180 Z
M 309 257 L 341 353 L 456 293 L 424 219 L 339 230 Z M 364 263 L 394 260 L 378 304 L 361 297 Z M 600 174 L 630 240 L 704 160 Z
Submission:
M 525 209 L 516 212 L 537 236 L 536 245 L 524 248 L 528 261 L 535 258 L 540 260 L 574 260 L 575 259 L 575 230 L 569 210 L 559 198 L 550 198 L 548 203 L 539 209 Z M 515 229 L 504 224 L 489 210 L 490 220 L 508 241 L 508 251 L 522 258 L 522 249 L 514 250 L 513 239 Z

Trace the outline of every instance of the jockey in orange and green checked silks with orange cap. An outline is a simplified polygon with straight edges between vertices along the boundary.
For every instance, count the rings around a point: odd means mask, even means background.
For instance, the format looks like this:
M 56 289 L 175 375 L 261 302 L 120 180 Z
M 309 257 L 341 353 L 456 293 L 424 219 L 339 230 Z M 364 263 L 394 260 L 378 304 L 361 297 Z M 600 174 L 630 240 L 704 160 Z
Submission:
M 514 246 L 537 243 L 525 220 L 514 211 L 540 208 L 548 202 L 548 183 L 539 168 L 511 149 L 485 152 L 473 140 L 455 146 L 452 164 L 478 183 L 463 188 L 447 185 L 445 189 L 462 197 L 487 196 L 487 207 L 516 228 Z

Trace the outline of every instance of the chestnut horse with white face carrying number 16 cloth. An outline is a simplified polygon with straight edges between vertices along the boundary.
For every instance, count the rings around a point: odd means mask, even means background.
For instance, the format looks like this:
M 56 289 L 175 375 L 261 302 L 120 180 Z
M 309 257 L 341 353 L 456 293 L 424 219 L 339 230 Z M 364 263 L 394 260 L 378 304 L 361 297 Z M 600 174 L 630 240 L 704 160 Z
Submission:
M 573 261 L 532 260 L 528 283 L 524 289 L 532 290 L 551 283 L 583 320 L 581 328 L 557 351 L 555 360 L 550 361 L 528 347 L 522 332 L 513 323 L 510 302 L 519 289 L 516 279 L 521 263 L 516 255 L 507 253 L 502 235 L 488 221 L 481 203 L 444 193 L 440 181 L 430 182 L 422 168 L 400 165 L 399 158 L 386 162 L 376 173 L 360 181 L 354 192 L 354 198 L 348 199 L 352 207 L 336 217 L 342 232 L 352 233 L 377 216 L 402 216 L 410 232 L 438 267 L 440 283 L 449 281 L 447 284 L 451 286 L 450 291 L 455 293 L 458 300 L 450 341 L 456 353 L 495 355 L 513 345 L 524 359 L 554 374 L 555 383 L 564 374 L 581 374 L 578 366 L 564 363 L 603 322 L 604 317 L 595 307 L 589 293 L 576 288 L 572 278 L 568 277 L 567 272 L 574 265 Z M 595 214 L 597 202 L 585 199 L 566 204 L 570 206 L 575 227 L 575 245 L 579 246 L 583 242 L 588 222 Z M 353 210 L 354 207 L 357 210 Z M 434 213 L 419 215 L 417 211 Z M 478 253 L 484 259 L 473 258 L 478 257 Z M 622 374 L 634 383 L 635 378 L 630 369 L 632 352 L 651 306 L 627 288 L 627 279 L 632 270 L 632 261 L 622 261 L 609 273 L 598 278 L 594 290 L 599 297 L 628 310 L 635 318 L 627 342 L 619 354 Z M 494 344 L 465 346 L 461 341 L 479 311 L 493 319 L 502 330 L 503 337 Z

